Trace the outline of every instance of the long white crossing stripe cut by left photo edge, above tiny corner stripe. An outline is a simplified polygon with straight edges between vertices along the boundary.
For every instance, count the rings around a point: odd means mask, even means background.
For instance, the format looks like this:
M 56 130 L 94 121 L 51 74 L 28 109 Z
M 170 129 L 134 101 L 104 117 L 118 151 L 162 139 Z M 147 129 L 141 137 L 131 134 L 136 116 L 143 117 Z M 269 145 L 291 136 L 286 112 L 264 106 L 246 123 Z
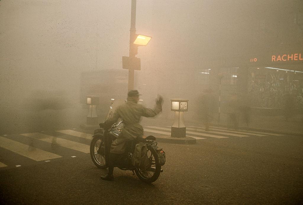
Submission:
M 16 152 L 19 155 L 25 156 L 27 158 L 33 159 L 35 161 L 42 161 L 47 159 L 60 158 L 62 156 L 56 155 L 51 152 L 46 152 L 44 150 L 35 148 L 33 150 L 28 150 L 28 145 L 23 143 L 16 142 L 5 137 L 0 137 L 0 146 L 4 149 L 8 149 L 12 152 Z

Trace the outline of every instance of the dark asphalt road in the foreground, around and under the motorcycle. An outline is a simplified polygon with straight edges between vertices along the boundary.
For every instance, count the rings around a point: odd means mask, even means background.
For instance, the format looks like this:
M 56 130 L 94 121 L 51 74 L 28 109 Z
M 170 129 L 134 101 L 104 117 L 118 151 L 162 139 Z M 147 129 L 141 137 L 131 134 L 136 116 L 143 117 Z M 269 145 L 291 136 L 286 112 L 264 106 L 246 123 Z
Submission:
M 115 181 L 89 154 L 0 169 L 2 204 L 302 204 L 302 136 L 248 136 L 159 143 L 157 181 L 115 168 Z M 205 188 L 210 187 L 209 189 Z

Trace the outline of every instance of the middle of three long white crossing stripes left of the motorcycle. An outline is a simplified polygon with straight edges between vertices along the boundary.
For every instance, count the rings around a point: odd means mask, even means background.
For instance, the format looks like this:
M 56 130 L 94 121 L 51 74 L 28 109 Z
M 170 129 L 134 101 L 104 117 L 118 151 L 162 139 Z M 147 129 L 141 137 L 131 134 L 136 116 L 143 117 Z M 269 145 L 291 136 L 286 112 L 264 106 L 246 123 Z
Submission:
M 54 136 L 50 136 L 50 135 L 45 135 L 42 133 L 27 133 L 27 134 L 22 134 L 23 136 L 27 136 L 27 137 L 31 137 L 34 139 L 38 139 L 44 142 L 48 142 L 48 143 L 56 143 L 56 145 L 62 146 L 62 147 L 66 147 L 69 149 L 74 149 L 80 152 L 84 152 L 84 153 L 89 153 L 89 145 L 85 145 L 82 143 L 77 143 L 71 140 L 67 140 L 67 139 L 62 139 L 62 138 L 58 138 L 58 137 L 54 137 Z

